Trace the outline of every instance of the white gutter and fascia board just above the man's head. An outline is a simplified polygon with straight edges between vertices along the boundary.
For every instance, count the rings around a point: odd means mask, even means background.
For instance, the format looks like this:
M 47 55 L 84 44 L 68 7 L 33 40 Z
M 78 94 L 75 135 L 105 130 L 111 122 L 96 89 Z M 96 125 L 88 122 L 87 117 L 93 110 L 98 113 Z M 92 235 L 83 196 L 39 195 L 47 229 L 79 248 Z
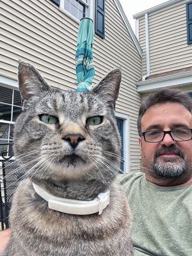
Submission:
M 192 85 L 192 72 L 185 72 L 182 74 L 158 77 L 155 79 L 150 79 L 146 81 L 136 82 L 138 86 L 138 92 L 145 93 L 151 92 L 164 87 L 173 87 L 173 86 L 186 86 Z

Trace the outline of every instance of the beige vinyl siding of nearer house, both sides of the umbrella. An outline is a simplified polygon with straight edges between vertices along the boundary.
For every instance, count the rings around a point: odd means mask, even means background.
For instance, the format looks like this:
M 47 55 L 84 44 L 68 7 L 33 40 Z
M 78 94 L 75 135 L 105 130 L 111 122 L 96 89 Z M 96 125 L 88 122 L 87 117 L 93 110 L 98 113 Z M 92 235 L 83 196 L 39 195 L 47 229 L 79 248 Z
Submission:
M 0 75 L 17 79 L 19 60 L 29 61 L 47 82 L 59 88 L 76 88 L 78 22 L 50 0 L 0 1 Z M 130 161 L 140 165 L 136 119 L 141 97 L 136 81 L 141 77 L 141 57 L 113 0 L 106 0 L 106 37 L 95 35 L 93 61 L 97 83 L 115 67 L 122 68 L 122 85 L 116 111 L 129 115 Z M 132 167 L 131 170 L 138 170 Z

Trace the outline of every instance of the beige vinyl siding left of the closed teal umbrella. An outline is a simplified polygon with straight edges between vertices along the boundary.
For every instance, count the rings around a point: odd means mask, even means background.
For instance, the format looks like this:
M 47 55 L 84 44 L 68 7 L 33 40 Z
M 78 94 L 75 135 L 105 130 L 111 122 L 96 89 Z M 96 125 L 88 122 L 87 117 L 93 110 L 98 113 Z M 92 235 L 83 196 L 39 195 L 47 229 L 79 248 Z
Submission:
M 78 24 L 51 1 L 1 1 L 0 74 L 17 78 L 19 60 L 26 60 L 47 82 L 74 87 Z

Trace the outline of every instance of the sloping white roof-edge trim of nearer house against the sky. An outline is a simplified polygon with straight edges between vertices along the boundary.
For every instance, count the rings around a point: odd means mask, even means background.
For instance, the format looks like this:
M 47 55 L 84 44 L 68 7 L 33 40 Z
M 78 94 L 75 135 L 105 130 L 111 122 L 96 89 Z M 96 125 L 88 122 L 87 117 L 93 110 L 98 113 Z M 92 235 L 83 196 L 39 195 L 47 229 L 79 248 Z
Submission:
M 136 46 L 136 49 L 138 50 L 140 56 L 142 56 L 142 49 L 140 46 L 140 43 L 138 42 L 138 39 L 136 38 L 136 35 L 134 35 L 134 32 L 131 28 L 131 25 L 129 23 L 129 20 L 127 19 L 127 16 L 125 15 L 124 9 L 122 8 L 122 5 L 120 4 L 119 0 L 114 0 L 116 4 L 116 8 L 118 9 L 118 12 L 120 12 L 120 15 L 122 19 L 124 20 L 125 27 L 129 31 L 129 34 L 131 35 L 132 41 L 134 42 L 134 45 Z

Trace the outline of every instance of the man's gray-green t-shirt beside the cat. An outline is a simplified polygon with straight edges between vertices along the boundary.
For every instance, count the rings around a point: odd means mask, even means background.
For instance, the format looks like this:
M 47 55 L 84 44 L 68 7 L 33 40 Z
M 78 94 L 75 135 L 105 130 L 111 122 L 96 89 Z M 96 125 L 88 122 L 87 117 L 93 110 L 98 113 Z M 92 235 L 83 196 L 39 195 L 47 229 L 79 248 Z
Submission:
M 135 256 L 192 256 L 192 185 L 160 187 L 143 173 L 121 175 L 133 215 Z

